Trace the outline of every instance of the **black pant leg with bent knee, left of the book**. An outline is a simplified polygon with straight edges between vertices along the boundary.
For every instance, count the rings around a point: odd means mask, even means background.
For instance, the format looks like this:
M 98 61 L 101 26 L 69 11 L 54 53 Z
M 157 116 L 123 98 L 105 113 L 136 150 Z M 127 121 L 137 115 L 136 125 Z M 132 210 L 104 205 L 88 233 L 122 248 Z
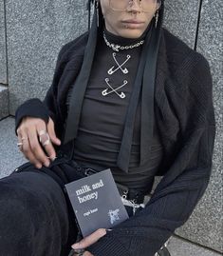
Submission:
M 67 255 L 69 219 L 63 190 L 46 173 L 0 180 L 0 255 Z

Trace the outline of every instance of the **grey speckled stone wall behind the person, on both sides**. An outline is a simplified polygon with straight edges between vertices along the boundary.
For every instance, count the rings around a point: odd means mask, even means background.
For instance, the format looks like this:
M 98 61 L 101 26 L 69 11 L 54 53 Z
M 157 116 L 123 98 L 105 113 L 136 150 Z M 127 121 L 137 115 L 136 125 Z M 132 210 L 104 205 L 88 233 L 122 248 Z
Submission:
M 3 0 L 0 0 L 2 24 Z M 25 99 L 43 98 L 50 86 L 57 53 L 65 42 L 86 30 L 84 0 L 5 0 L 10 114 Z M 223 251 L 221 235 L 222 184 L 222 0 L 166 0 L 165 27 L 209 60 L 214 77 L 217 133 L 210 186 L 188 223 L 177 234 L 202 246 Z M 200 4 L 202 4 L 200 9 Z M 198 19 L 200 14 L 200 19 Z M 198 28 L 198 30 L 197 30 Z M 0 29 L 0 52 L 5 56 Z M 4 41 L 5 42 L 5 41 Z M 0 55 L 1 56 L 1 55 Z M 6 78 L 5 57 L 0 58 L 1 79 Z M 1 66 L 1 63 L 3 66 Z M 3 77 L 3 78 L 2 78 Z

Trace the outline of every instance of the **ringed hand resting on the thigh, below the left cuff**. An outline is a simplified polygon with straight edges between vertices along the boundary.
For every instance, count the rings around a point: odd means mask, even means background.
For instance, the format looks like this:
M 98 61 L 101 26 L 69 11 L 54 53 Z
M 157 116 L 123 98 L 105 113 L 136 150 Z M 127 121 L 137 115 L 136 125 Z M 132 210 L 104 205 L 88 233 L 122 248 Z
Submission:
M 22 144 L 19 147 L 20 150 L 35 167 L 41 168 L 43 165 L 48 167 L 49 160 L 53 161 L 56 158 L 53 144 L 59 146 L 61 141 L 56 137 L 54 123 L 51 118 L 46 124 L 40 118 L 25 117 L 17 129 L 17 134 L 19 143 Z M 49 142 L 47 143 L 48 138 Z M 42 145 L 40 144 L 40 139 Z

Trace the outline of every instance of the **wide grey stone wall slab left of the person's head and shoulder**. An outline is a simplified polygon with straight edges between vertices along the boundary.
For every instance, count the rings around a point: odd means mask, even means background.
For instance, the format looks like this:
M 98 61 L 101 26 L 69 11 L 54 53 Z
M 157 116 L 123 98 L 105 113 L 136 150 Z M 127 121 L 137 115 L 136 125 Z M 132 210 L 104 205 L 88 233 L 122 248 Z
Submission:
M 9 108 L 43 98 L 62 45 L 86 30 L 84 1 L 6 0 Z

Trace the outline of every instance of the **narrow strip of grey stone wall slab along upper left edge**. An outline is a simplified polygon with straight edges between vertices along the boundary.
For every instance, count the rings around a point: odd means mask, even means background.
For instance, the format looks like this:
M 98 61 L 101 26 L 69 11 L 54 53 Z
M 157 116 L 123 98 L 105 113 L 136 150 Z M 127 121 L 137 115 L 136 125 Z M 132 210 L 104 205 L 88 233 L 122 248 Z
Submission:
M 7 84 L 6 28 L 4 1 L 0 0 L 0 84 Z

